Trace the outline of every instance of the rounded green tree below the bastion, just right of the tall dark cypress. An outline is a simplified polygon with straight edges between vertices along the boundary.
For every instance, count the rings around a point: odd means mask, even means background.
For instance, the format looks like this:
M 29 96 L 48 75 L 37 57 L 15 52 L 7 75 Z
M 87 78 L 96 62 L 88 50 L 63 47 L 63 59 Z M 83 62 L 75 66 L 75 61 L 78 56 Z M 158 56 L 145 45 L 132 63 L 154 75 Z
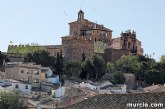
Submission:
M 64 71 L 69 78 L 77 78 L 81 72 L 81 65 L 75 60 L 64 62 Z

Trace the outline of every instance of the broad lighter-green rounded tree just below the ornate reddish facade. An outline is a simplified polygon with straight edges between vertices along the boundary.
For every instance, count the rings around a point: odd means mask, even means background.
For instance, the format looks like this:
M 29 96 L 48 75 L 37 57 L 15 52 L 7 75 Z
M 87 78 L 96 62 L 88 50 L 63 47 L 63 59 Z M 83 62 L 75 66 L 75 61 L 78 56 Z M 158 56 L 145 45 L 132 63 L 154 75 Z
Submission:
M 141 63 L 138 61 L 137 56 L 122 56 L 116 62 L 117 69 L 123 73 L 137 73 L 141 68 Z

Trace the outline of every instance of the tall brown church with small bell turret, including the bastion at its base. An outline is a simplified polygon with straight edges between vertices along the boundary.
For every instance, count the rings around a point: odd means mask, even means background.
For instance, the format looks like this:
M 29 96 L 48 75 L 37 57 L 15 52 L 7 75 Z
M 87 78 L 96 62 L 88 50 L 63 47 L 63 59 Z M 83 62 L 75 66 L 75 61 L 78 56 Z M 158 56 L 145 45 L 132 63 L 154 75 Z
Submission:
M 94 44 L 102 41 L 110 46 L 112 30 L 103 25 L 88 21 L 84 18 L 84 12 L 78 12 L 77 21 L 69 23 L 70 34 L 62 37 L 64 59 L 81 60 L 84 52 L 87 57 L 94 53 Z

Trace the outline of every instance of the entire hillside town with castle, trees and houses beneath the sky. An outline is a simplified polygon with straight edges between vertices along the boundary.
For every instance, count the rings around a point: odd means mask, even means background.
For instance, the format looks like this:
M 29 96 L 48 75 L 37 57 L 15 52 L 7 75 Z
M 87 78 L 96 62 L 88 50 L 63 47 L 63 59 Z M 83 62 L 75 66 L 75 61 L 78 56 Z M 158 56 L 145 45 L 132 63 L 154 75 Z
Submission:
M 137 101 L 163 104 L 165 57 L 156 62 L 144 55 L 134 30 L 121 31 L 117 38 L 112 32 L 85 19 L 80 10 L 61 45 L 10 43 L 7 53 L 0 52 L 0 108 L 130 109 L 128 103 Z

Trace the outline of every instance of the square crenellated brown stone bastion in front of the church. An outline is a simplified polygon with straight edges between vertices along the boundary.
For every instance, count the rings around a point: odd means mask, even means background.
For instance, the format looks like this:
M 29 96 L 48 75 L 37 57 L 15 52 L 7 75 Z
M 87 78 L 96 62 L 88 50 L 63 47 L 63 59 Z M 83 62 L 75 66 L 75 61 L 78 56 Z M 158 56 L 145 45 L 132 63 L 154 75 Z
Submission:
M 62 45 L 65 60 L 80 61 L 83 52 L 86 57 L 91 57 L 94 52 L 94 43 L 91 40 L 63 39 Z

